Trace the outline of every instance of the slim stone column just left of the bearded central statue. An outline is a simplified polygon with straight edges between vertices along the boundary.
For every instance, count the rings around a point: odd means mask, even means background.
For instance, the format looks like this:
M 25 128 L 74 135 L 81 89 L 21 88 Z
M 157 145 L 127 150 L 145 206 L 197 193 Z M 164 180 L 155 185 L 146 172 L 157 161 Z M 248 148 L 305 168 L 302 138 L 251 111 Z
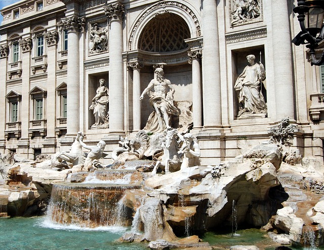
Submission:
M 129 62 L 128 67 L 133 69 L 133 131 L 141 130 L 141 68 L 142 62 Z

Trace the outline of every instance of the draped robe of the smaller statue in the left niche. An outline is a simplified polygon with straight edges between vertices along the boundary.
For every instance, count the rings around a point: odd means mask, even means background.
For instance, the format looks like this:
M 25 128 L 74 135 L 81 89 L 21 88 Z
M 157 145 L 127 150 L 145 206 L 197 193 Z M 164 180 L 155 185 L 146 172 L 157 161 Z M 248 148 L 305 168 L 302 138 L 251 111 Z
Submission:
M 109 102 L 109 93 L 108 88 L 103 86 L 97 89 L 97 95 L 100 96 L 96 99 L 93 114 L 95 116 L 95 125 L 105 124 L 107 122 L 108 115 L 108 102 Z

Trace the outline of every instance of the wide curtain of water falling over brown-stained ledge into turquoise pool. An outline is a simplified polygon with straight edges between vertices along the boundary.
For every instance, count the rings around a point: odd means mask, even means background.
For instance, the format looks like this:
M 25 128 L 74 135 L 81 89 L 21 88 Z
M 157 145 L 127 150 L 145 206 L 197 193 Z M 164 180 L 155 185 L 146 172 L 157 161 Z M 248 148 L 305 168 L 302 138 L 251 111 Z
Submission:
M 78 227 L 129 226 L 131 218 L 125 218 L 120 199 L 126 190 L 139 188 L 136 185 L 56 184 L 48 217 L 54 223 Z

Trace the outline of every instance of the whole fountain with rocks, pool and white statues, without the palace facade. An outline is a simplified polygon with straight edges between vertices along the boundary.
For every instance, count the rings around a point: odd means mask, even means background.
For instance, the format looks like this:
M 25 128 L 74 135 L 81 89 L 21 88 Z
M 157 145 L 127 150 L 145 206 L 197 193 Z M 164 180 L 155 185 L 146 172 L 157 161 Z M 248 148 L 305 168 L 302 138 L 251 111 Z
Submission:
M 264 67 L 254 55 L 247 59 L 250 65 L 235 84 L 240 114 L 263 116 L 258 78 L 264 77 Z M 245 85 L 248 81 L 256 86 Z M 108 116 L 107 90 L 100 82 L 91 107 L 95 127 Z M 245 100 L 247 93 L 255 103 Z M 119 147 L 108 157 L 111 164 L 101 161 L 107 158 L 105 141 L 87 145 L 83 132 L 77 132 L 69 151 L 39 155 L 35 161 L 3 155 L 0 223 L 6 239 L 1 244 L 10 249 L 323 245 L 324 168 L 291 147 L 296 125 L 282 118 L 259 146 L 231 161 L 201 165 L 199 141 L 190 133 L 192 112 L 173 94 L 163 68 L 156 68 L 140 96 L 145 101 L 148 95 L 152 107 L 146 126 L 119 138 Z M 20 235 L 8 236 L 13 225 Z

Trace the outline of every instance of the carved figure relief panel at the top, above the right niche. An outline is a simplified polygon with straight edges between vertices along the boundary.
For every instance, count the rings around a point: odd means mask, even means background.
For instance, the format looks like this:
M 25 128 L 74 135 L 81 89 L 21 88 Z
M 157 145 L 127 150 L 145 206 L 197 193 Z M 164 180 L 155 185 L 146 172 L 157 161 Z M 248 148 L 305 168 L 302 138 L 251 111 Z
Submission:
M 231 25 L 248 22 L 260 16 L 260 0 L 233 0 Z

